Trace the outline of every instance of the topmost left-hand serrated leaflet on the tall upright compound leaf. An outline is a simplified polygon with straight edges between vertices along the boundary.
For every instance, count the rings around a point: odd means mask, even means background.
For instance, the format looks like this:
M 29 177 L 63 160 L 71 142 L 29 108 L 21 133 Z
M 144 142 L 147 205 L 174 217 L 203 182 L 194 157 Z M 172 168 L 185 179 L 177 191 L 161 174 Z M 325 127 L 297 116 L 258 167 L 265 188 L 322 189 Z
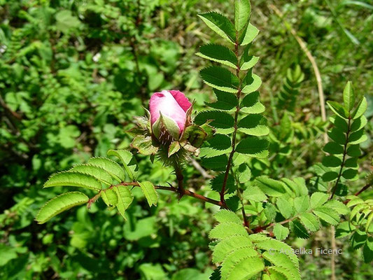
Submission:
M 218 35 L 230 43 L 234 43 L 236 40 L 236 31 L 232 22 L 227 17 L 216 12 L 201 13 L 198 16 Z

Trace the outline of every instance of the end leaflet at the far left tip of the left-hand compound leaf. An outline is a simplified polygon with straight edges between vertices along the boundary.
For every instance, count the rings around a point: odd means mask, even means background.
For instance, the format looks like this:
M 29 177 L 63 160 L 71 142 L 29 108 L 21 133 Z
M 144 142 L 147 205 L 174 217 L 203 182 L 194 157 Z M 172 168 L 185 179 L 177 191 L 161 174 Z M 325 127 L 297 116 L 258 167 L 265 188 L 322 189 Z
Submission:
M 38 223 L 45 223 L 50 220 L 50 218 L 53 218 L 63 211 L 85 204 L 89 200 L 87 195 L 80 192 L 64 193 L 48 201 L 40 211 L 38 211 L 35 220 Z

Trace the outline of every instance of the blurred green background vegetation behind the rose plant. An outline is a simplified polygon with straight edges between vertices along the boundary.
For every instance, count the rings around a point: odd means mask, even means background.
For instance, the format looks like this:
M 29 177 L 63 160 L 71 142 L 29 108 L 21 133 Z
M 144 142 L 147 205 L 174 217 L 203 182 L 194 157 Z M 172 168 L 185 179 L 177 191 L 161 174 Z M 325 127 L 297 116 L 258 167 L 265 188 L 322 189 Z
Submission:
M 260 35 L 253 53 L 261 57 L 262 100 L 272 123 L 272 153 L 253 174 L 313 176 L 322 158 L 323 129 L 311 63 L 288 31 L 306 43 L 321 71 L 325 99 L 342 100 L 347 80 L 373 116 L 373 6 L 363 1 L 252 1 Z M 286 23 L 269 6 L 284 14 Z M 141 116 L 150 94 L 178 89 L 211 102 L 195 55 L 209 41 L 197 13 L 233 15 L 231 1 L 199 0 L 0 0 L 0 279 L 204 280 L 213 270 L 207 232 L 216 207 L 161 193 L 149 209 L 139 194 L 124 223 L 97 202 L 37 225 L 34 216 L 48 199 L 53 172 L 129 148 L 133 116 Z M 304 81 L 295 109 L 279 103 L 288 69 L 300 66 Z M 279 121 L 281 120 L 281 121 Z M 372 121 L 360 158 L 361 178 L 372 163 Z M 171 169 L 141 160 L 144 178 L 173 183 Z M 255 173 L 256 172 L 256 173 Z M 188 165 L 188 187 L 209 193 L 208 176 Z M 351 185 L 358 190 L 361 184 Z M 312 188 L 309 183 L 309 188 Z M 371 192 L 364 194 L 366 197 Z M 328 230 L 293 246 L 330 248 Z M 346 245 L 345 245 L 346 244 Z M 337 279 L 372 279 L 359 251 L 337 240 Z M 304 279 L 328 279 L 330 256 L 303 255 Z

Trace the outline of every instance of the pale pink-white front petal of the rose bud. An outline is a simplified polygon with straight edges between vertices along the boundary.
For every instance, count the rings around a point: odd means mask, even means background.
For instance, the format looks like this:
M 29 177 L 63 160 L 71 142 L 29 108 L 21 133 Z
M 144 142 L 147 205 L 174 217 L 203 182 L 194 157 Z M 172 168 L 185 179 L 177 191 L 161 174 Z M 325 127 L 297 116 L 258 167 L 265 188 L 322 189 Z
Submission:
M 184 94 L 183 97 L 185 97 Z M 149 109 L 150 123 L 152 125 L 158 118 L 160 118 L 161 112 L 163 116 L 167 116 L 174 120 L 177 123 L 180 132 L 183 132 L 186 120 L 185 111 L 181 108 L 178 102 L 176 102 L 176 99 L 169 91 L 163 90 L 162 92 L 155 92 L 152 97 L 150 97 Z

